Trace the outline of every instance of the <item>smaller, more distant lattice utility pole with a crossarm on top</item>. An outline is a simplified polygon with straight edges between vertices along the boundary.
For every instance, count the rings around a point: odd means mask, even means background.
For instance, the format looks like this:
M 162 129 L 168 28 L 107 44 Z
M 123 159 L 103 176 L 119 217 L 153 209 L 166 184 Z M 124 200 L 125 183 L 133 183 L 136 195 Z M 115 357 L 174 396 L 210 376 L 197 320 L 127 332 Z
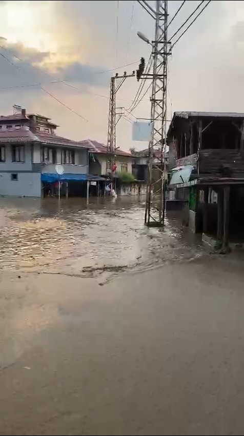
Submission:
M 121 115 L 116 113 L 115 96 L 120 87 L 123 85 L 127 77 L 134 77 L 135 71 L 132 74 L 127 74 L 126 71 L 124 75 L 119 76 L 118 73 L 111 77 L 110 83 L 110 100 L 109 100 L 109 121 L 108 121 L 108 139 L 107 139 L 107 164 L 106 173 L 108 170 L 112 171 L 115 165 L 115 155 L 116 155 L 116 115 Z M 116 81 L 119 81 L 118 85 Z M 121 108 L 120 108 L 121 109 Z

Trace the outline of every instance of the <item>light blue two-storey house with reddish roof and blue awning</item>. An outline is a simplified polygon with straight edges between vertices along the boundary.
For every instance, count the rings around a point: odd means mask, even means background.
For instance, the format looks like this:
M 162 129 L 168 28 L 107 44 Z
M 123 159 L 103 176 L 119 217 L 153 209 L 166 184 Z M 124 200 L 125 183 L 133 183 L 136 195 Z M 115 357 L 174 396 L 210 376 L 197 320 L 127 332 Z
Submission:
M 40 197 L 58 182 L 68 194 L 72 187 L 77 192 L 76 182 L 99 180 L 89 175 L 89 149 L 57 136 L 56 128 L 50 118 L 25 109 L 0 117 L 0 195 Z

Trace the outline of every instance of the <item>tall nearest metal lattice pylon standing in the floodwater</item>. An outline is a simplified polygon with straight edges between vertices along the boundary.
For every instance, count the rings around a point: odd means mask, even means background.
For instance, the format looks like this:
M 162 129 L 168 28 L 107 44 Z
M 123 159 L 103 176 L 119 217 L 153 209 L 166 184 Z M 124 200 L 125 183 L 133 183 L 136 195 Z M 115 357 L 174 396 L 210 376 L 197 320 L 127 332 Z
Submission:
M 156 1 L 155 41 L 153 41 L 153 83 L 151 94 L 152 136 L 148 153 L 148 181 L 145 224 L 164 225 L 165 213 L 165 163 L 164 152 L 167 135 L 167 72 L 169 44 L 167 39 L 168 1 Z M 160 150 L 159 163 L 155 150 Z

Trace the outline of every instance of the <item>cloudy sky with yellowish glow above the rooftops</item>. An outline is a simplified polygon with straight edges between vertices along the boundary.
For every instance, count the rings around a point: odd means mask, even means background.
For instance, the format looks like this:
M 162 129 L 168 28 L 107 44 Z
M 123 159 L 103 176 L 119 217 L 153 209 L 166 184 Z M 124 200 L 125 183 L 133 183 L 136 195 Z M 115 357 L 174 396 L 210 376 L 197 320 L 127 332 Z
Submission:
M 181 1 L 168 3 L 170 20 Z M 169 37 L 198 4 L 185 2 Z M 138 2 L 0 0 L 0 29 L 0 114 L 21 105 L 52 118 L 59 135 L 106 144 L 111 75 L 131 73 L 150 55 L 136 32 L 153 39 L 154 21 Z M 243 48 L 244 2 L 213 0 L 172 50 L 167 118 L 184 110 L 244 112 Z M 129 109 L 137 89 L 128 77 L 116 106 Z M 150 92 L 131 121 L 150 116 L 149 99 Z M 117 145 L 145 148 L 132 141 L 131 121 L 117 124 Z

